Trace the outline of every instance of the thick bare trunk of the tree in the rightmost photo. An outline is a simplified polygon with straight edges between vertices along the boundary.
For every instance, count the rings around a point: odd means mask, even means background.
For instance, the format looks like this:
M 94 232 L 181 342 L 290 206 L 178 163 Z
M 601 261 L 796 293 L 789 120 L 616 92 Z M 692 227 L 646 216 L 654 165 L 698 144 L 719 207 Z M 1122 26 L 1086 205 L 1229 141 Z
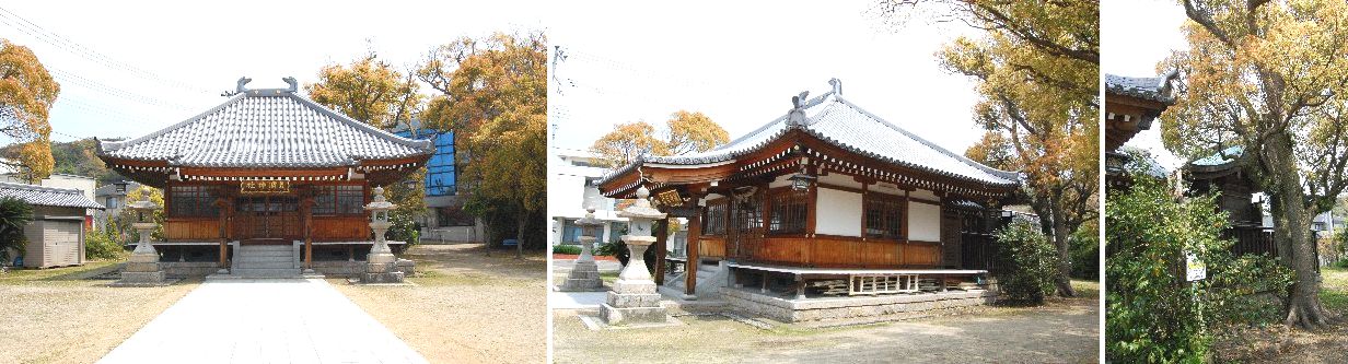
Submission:
M 1287 297 L 1286 325 L 1299 329 L 1320 329 L 1336 321 L 1320 305 L 1320 272 L 1316 271 L 1316 244 L 1310 239 L 1310 212 L 1304 208 L 1305 193 L 1301 189 L 1301 174 L 1293 158 L 1289 136 L 1274 136 L 1266 147 L 1266 163 L 1273 174 L 1273 194 L 1279 202 L 1281 218 L 1274 226 L 1275 235 L 1286 236 L 1290 243 L 1291 270 L 1294 283 Z M 1282 256 L 1289 256 L 1281 253 Z

